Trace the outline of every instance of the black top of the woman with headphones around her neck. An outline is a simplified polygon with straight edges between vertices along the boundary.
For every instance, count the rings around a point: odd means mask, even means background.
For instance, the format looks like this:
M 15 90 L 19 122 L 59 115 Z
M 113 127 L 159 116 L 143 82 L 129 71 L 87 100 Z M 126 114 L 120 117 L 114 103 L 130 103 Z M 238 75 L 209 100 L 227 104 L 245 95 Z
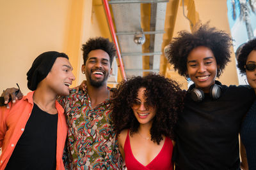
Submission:
M 239 169 L 241 120 L 253 103 L 248 86 L 223 85 L 221 97 L 196 103 L 187 94 L 175 134 L 176 169 Z

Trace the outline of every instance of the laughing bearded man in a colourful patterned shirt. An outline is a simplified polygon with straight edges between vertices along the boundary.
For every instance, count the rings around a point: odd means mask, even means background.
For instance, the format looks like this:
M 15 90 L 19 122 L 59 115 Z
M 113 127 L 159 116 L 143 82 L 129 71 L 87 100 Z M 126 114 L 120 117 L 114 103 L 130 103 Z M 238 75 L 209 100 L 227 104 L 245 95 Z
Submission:
M 116 54 L 115 45 L 106 38 L 92 38 L 82 50 L 82 73 L 86 75 L 86 87 L 78 93 L 72 89 L 69 96 L 58 99 L 68 124 L 66 167 L 122 169 L 116 134 L 111 125 L 111 91 L 107 86 Z M 6 99 L 10 95 L 7 92 L 4 94 Z

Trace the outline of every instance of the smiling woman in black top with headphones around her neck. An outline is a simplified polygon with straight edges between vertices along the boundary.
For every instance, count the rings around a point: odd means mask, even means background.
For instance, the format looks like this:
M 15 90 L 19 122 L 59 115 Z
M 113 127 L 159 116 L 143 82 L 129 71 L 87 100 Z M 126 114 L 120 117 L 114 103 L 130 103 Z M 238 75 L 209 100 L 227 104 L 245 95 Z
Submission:
M 175 169 L 240 169 L 239 129 L 255 94 L 216 80 L 230 61 L 232 39 L 208 24 L 179 32 L 166 51 L 175 70 L 193 81 L 179 114 Z

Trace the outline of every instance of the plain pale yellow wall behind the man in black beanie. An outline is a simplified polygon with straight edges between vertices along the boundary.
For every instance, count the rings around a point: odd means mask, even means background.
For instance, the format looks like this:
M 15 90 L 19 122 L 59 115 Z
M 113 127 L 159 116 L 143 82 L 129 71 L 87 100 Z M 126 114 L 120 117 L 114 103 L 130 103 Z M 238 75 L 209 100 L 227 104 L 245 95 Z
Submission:
M 63 51 L 70 1 L 1 1 L 0 89 L 19 83 L 26 94 L 26 73 L 42 52 Z

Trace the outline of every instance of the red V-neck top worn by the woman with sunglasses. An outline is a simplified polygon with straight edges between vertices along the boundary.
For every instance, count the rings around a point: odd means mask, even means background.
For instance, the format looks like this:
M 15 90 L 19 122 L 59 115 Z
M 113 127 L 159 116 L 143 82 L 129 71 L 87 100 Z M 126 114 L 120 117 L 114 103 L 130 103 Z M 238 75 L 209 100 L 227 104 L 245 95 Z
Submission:
M 163 170 L 173 170 L 172 164 L 172 140 L 170 138 L 165 138 L 164 145 L 158 155 L 147 165 L 143 166 L 138 160 L 135 159 L 132 154 L 131 143 L 129 139 L 129 131 L 124 143 L 124 153 L 125 153 L 125 166 L 127 169 L 132 170 L 154 170 L 154 169 L 163 169 Z

